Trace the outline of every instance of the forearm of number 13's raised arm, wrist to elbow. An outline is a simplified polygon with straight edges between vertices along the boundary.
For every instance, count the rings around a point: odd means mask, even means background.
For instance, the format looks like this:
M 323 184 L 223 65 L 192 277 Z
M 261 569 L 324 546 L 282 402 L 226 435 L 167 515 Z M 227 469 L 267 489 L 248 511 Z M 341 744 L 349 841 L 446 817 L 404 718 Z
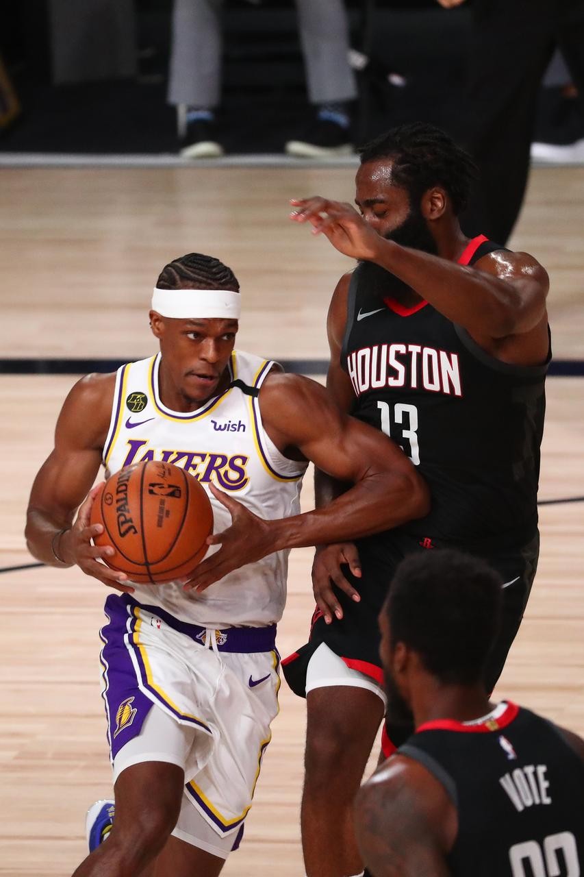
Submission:
M 523 297 L 512 283 L 384 239 L 380 239 L 373 261 L 469 332 L 493 338 L 516 332 Z

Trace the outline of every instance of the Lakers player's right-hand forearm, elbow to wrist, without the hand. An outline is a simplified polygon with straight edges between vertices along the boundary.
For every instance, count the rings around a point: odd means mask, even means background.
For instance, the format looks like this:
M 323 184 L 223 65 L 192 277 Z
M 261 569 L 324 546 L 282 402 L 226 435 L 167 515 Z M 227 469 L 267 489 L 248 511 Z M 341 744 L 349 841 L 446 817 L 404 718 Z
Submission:
M 273 550 L 371 536 L 429 509 L 428 488 L 417 474 L 372 474 L 324 508 L 270 522 Z

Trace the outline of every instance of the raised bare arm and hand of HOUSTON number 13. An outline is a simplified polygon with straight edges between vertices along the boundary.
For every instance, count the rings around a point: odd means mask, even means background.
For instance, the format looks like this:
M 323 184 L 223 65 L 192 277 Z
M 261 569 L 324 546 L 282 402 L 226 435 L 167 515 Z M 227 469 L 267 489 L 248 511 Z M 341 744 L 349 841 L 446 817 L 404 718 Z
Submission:
M 441 189 L 431 190 L 431 197 L 443 196 Z M 489 352 L 497 355 L 502 340 L 515 339 L 502 359 L 530 365 L 545 359 L 549 278 L 532 256 L 498 251 L 466 267 L 382 238 L 351 204 L 321 197 L 294 203 L 296 222 L 310 223 L 339 252 L 386 268 Z M 521 337 L 531 333 L 525 344 Z

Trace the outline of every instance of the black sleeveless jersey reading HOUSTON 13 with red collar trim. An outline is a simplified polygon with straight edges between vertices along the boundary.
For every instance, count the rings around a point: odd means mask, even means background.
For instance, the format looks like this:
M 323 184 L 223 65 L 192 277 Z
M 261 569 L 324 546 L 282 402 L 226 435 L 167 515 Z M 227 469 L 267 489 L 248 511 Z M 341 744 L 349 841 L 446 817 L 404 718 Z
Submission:
M 500 249 L 476 238 L 459 263 Z M 401 531 L 469 550 L 523 545 L 537 531 L 551 354 L 538 367 L 495 360 L 431 304 L 403 308 L 387 292 L 395 280 L 368 263 L 355 268 L 341 364 L 353 416 L 402 446 L 430 487 L 430 514 Z

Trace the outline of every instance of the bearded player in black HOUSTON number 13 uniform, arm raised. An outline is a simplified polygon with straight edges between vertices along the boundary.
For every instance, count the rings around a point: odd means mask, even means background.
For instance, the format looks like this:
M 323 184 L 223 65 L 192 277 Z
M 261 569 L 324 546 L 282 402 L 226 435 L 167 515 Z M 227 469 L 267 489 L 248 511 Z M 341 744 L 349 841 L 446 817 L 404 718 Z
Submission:
M 308 703 L 308 877 L 361 871 L 350 811 L 385 709 L 377 616 L 397 563 L 458 547 L 502 575 L 488 690 L 535 574 L 548 277 L 531 255 L 466 238 L 457 217 L 473 176 L 452 139 L 417 123 L 361 150 L 357 210 L 322 197 L 292 202 L 293 220 L 359 260 L 332 296 L 327 387 L 342 409 L 400 444 L 431 489 L 427 517 L 317 551 L 310 642 L 282 662 Z M 317 503 L 342 489 L 318 475 Z M 399 743 L 410 729 L 392 720 L 389 737 Z

